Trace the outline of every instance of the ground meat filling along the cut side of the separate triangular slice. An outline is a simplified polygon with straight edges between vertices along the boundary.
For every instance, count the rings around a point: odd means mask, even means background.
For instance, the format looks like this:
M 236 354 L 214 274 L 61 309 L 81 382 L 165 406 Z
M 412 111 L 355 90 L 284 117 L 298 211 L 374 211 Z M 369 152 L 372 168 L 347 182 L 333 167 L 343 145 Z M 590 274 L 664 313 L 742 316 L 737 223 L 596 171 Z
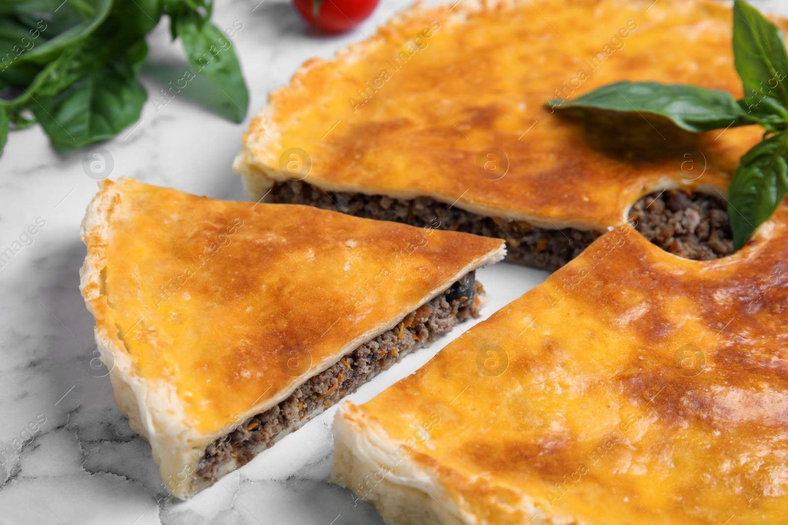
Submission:
M 221 465 L 232 458 L 239 466 L 246 464 L 261 449 L 272 446 L 278 434 L 291 430 L 315 409 L 334 405 L 411 350 L 451 331 L 459 322 L 477 318 L 475 298 L 481 294 L 484 290 L 476 282 L 475 272 L 468 273 L 444 294 L 407 314 L 392 330 L 359 346 L 333 367 L 308 379 L 279 405 L 243 421 L 231 434 L 211 443 L 196 475 L 210 481 Z

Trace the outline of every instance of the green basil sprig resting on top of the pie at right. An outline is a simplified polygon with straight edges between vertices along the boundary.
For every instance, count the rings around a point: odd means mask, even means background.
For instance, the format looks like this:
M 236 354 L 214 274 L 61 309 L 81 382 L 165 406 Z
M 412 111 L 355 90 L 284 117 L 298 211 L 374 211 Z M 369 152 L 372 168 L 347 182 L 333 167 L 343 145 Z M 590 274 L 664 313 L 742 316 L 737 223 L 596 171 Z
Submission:
M 782 32 L 744 0 L 734 2 L 734 65 L 745 96 L 686 84 L 618 82 L 554 109 L 605 109 L 667 118 L 695 133 L 758 124 L 764 140 L 739 161 L 728 187 L 734 250 L 775 212 L 788 194 L 788 50 Z

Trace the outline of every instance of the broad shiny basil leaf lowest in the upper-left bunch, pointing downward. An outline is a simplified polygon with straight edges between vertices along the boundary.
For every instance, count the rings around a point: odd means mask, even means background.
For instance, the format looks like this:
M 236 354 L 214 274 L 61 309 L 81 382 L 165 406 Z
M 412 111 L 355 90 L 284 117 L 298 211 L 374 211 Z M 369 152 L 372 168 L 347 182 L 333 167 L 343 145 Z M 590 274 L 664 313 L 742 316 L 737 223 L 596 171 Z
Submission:
M 65 153 L 110 139 L 139 119 L 147 95 L 142 85 L 115 65 L 31 106 L 55 150 Z

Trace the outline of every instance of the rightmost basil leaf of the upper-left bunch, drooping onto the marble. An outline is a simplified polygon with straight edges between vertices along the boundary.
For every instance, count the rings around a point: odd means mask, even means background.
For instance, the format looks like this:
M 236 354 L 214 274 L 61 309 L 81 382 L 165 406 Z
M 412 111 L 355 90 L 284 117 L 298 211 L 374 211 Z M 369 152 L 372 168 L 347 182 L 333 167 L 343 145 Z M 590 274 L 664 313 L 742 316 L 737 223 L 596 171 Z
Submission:
M 243 120 L 249 106 L 249 92 L 230 40 L 198 13 L 182 15 L 176 25 L 191 68 L 219 89 L 217 94 L 221 98 L 217 103 L 224 107 L 220 113 L 231 116 L 233 122 Z

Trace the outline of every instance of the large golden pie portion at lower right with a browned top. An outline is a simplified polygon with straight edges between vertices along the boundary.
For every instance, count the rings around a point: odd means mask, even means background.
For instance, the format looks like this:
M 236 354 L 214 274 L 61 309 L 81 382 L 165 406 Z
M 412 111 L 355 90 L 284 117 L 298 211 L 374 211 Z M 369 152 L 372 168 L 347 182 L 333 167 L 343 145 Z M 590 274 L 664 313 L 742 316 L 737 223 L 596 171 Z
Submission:
M 387 523 L 788 516 L 788 201 L 688 261 L 624 225 L 334 423 Z

